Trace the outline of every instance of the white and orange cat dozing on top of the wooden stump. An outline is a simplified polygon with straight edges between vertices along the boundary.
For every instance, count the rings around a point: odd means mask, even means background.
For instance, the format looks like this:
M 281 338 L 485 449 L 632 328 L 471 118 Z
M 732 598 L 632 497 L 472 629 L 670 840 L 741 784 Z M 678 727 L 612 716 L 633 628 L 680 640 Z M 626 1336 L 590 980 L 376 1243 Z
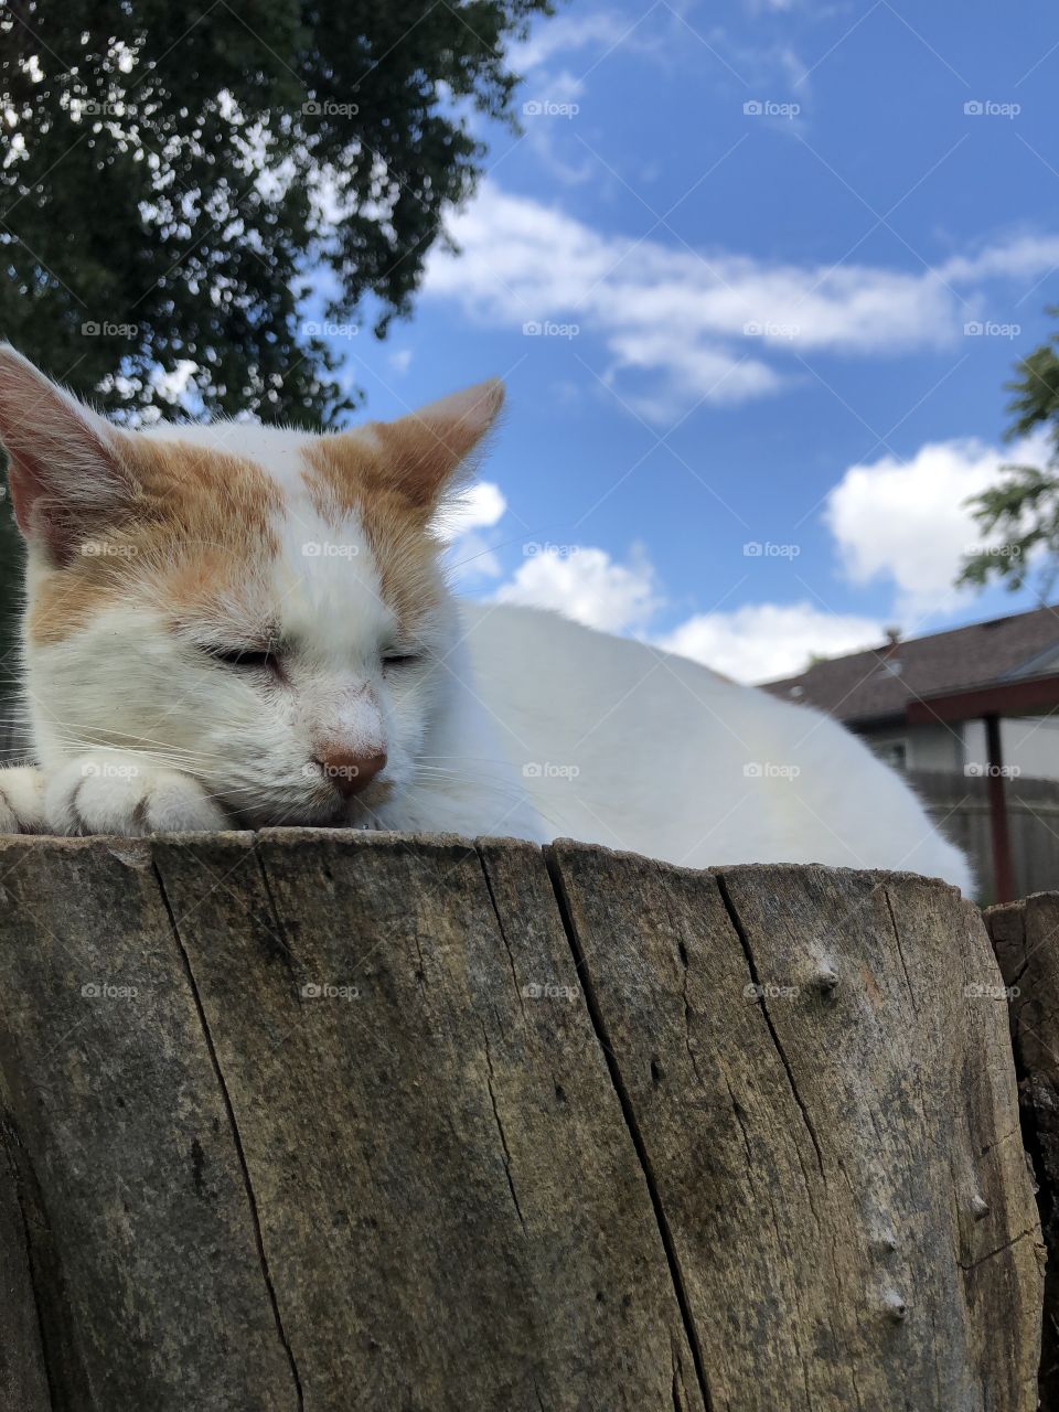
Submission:
M 566 834 L 970 892 L 962 853 L 834 722 L 449 592 L 436 525 L 503 397 L 489 381 L 319 436 L 131 432 L 0 349 L 35 760 L 0 771 L 0 832 Z

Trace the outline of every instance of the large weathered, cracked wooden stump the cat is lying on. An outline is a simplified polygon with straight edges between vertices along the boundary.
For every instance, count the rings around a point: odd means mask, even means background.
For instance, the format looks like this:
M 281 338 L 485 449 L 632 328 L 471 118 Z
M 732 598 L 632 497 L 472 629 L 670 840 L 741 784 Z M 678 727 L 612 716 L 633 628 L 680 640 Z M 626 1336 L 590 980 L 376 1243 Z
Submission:
M 1029 1412 L 973 908 L 312 830 L 0 840 L 30 1412 Z

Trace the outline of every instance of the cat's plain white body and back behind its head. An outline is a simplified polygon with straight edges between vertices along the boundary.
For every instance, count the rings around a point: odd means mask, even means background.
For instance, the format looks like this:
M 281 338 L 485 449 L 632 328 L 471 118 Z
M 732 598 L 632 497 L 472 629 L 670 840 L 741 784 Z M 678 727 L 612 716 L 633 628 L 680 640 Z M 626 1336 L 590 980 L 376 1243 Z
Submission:
M 463 611 L 474 689 L 549 837 L 689 867 L 907 870 L 970 892 L 908 786 L 819 712 L 552 613 Z

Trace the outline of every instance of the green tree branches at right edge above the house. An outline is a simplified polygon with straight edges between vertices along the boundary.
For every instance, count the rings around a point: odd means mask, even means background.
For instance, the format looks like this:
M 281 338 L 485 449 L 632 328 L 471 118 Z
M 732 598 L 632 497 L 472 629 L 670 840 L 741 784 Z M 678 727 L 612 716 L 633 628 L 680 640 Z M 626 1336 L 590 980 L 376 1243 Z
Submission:
M 1048 313 L 1059 315 L 1059 306 Z M 984 587 L 997 579 L 1015 590 L 1027 582 L 1031 565 L 1042 565 L 1048 594 L 1059 572 L 1059 333 L 1022 359 L 1017 373 L 1007 384 L 1014 394 L 1007 439 L 1041 428 L 1051 455 L 1043 469 L 1004 466 L 997 486 L 967 501 L 983 534 L 1003 544 L 967 555 L 957 583 Z

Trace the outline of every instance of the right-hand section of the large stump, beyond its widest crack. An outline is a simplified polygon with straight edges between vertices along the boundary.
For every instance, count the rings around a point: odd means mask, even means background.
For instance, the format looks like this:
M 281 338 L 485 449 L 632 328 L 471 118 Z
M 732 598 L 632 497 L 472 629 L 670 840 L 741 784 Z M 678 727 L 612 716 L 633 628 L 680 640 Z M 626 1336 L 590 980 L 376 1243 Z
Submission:
M 976 909 L 912 875 L 552 858 L 713 1406 L 1035 1406 L 1039 1228 Z

